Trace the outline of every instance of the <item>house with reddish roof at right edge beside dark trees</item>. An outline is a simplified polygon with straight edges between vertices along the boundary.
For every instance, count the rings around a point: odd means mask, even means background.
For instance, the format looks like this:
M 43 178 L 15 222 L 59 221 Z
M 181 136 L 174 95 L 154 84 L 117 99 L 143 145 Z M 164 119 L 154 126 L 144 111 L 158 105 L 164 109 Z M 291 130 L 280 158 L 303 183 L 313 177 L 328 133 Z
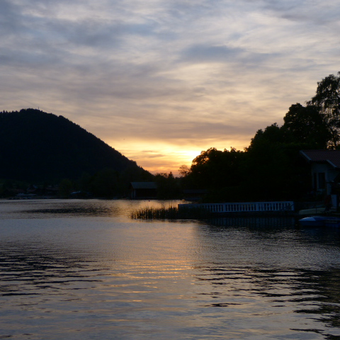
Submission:
M 302 150 L 300 154 L 310 163 L 314 192 L 325 196 L 336 194 L 340 182 L 340 150 Z

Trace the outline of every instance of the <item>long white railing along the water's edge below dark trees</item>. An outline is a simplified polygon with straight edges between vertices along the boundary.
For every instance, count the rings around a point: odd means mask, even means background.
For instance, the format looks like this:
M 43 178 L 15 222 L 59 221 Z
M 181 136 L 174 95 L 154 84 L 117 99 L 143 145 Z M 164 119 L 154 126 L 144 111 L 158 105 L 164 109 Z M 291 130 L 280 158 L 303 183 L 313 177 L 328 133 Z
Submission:
M 294 211 L 294 202 L 245 202 L 245 203 L 197 203 L 179 204 L 179 209 L 204 208 L 210 212 L 270 212 Z

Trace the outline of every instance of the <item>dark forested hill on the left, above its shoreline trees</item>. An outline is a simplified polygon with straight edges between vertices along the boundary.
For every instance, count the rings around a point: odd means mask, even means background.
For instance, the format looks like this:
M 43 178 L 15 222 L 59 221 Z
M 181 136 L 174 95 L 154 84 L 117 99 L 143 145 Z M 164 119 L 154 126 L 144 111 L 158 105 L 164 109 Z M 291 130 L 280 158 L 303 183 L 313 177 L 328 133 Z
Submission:
M 147 171 L 67 118 L 35 109 L 0 113 L 0 179 L 60 181 L 105 168 L 132 180 Z

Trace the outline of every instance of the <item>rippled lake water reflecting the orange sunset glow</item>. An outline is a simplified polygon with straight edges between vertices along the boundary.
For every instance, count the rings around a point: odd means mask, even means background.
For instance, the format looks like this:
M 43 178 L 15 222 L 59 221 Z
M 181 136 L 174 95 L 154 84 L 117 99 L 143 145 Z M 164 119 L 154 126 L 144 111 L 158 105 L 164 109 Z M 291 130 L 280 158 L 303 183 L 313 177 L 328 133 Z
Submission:
M 0 200 L 0 339 L 340 339 L 340 230 Z

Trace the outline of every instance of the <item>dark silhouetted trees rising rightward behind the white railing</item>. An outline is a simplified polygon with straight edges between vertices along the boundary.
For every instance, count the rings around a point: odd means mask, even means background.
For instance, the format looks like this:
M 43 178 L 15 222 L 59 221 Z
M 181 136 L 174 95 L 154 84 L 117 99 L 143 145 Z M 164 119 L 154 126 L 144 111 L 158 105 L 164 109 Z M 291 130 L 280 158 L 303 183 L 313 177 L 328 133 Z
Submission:
M 205 200 L 309 200 L 310 168 L 302 149 L 340 148 L 340 72 L 317 83 L 305 105 L 290 106 L 277 123 L 258 130 L 243 151 L 212 147 L 181 166 L 184 188 L 205 188 Z

